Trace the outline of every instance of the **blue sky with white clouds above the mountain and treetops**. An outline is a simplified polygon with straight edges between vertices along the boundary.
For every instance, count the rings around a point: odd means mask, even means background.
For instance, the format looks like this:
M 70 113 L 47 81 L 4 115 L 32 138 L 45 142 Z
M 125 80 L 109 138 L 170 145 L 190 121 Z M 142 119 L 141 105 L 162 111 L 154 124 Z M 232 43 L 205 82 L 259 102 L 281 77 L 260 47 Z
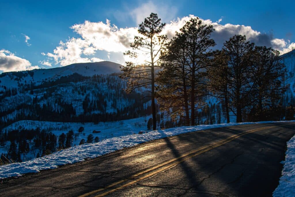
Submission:
M 230 32 L 235 32 L 247 35 L 258 45 L 286 52 L 295 43 L 294 7 L 294 1 L 257 0 L 0 2 L 0 73 L 83 61 L 109 60 L 123 64 L 122 52 L 128 49 L 127 45 L 108 44 L 109 39 L 116 40 L 125 33 L 126 39 L 132 41 L 135 32 L 131 28 L 137 27 L 150 12 L 158 13 L 167 24 L 177 18 L 180 24 L 190 14 L 216 23 L 214 27 L 222 28 L 214 36 L 218 46 Z M 73 27 L 75 24 L 80 26 Z M 113 24 L 117 29 L 112 29 Z M 175 26 L 169 31 L 176 31 Z M 101 27 L 111 28 L 108 31 L 112 37 L 105 40 L 103 34 L 90 33 Z M 57 47 L 58 51 L 54 52 Z

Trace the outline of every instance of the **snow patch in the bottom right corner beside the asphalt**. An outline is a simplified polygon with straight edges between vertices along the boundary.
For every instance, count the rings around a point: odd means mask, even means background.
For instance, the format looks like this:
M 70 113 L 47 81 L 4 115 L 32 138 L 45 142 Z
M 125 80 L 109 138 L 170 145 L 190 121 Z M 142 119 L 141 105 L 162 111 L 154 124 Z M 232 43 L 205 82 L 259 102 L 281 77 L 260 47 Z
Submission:
M 280 183 L 273 196 L 294 197 L 295 196 L 295 136 L 287 142 L 287 151 Z

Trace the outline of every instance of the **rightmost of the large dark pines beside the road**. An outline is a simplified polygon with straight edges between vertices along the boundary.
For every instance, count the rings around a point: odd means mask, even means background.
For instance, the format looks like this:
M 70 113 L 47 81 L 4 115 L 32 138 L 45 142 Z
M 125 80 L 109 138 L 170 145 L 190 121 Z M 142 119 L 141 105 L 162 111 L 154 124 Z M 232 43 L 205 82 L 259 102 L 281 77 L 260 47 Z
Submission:
M 286 87 L 282 82 L 286 77 L 286 68 L 281 62 L 280 53 L 271 48 L 255 46 L 252 64 L 254 84 L 253 100 L 258 120 L 266 120 L 264 111 L 279 105 Z

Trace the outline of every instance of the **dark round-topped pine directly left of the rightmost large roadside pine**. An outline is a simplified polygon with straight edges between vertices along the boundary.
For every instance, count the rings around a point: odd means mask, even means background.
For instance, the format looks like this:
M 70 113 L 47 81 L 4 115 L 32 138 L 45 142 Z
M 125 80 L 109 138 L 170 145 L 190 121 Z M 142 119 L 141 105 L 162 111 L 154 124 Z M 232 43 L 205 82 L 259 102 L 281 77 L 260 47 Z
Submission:
M 228 57 L 229 100 L 230 110 L 236 115 L 237 123 L 242 122 L 243 110 L 252 104 L 251 95 L 251 54 L 254 43 L 246 40 L 246 36 L 235 35 L 224 43 L 223 50 Z

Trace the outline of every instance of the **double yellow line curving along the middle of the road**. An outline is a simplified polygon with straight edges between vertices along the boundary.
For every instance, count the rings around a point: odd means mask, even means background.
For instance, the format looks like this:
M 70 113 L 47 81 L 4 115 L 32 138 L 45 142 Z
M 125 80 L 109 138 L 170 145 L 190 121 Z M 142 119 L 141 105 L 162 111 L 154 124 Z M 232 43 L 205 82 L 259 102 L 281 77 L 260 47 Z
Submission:
M 151 176 L 157 175 L 157 174 L 159 174 L 159 173 L 161 173 L 161 172 L 163 172 L 165 170 L 168 170 L 169 168 L 174 167 L 174 166 L 176 166 L 176 165 L 178 165 L 178 164 L 180 164 L 180 163 L 182 163 L 182 162 L 184 162 L 184 161 L 186 161 L 186 160 L 188 160 L 188 159 L 190 159 L 192 157 L 195 157 L 195 156 L 197 156 L 199 154 L 202 154 L 202 153 L 207 152 L 207 151 L 209 151 L 211 149 L 214 149 L 214 148 L 216 148 L 218 146 L 226 144 L 226 143 L 228 143 L 228 142 L 230 142 L 230 141 L 232 141 L 234 139 L 237 139 L 240 136 L 246 135 L 248 133 L 253 133 L 253 132 L 256 132 L 256 131 L 260 131 L 260 130 L 263 130 L 263 129 L 274 128 L 274 127 L 276 127 L 276 126 L 262 127 L 262 128 L 253 129 L 253 130 L 250 130 L 250 131 L 245 131 L 245 132 L 242 132 L 242 133 L 239 133 L 239 134 L 232 135 L 232 136 L 230 136 L 230 137 L 228 137 L 226 139 L 217 141 L 217 142 L 215 142 L 213 144 L 210 144 L 210 145 L 207 145 L 207 146 L 203 146 L 203 147 L 201 147 L 199 149 L 196 149 L 196 150 L 191 151 L 189 153 L 183 154 L 180 157 L 171 159 L 171 160 L 169 160 L 167 162 L 161 163 L 161 164 L 156 165 L 154 167 L 151 167 L 151 168 L 149 168 L 147 170 L 138 172 L 138 173 L 132 175 L 129 178 L 124 178 L 124 179 L 119 180 L 119 181 L 117 181 L 115 183 L 112 183 L 111 185 L 108 185 L 108 186 L 106 186 L 104 188 L 94 190 L 94 191 L 91 191 L 89 193 L 85 193 L 85 194 L 81 195 L 80 197 L 89 196 L 89 195 L 92 195 L 94 193 L 99 193 L 99 192 L 103 192 L 103 193 L 97 195 L 96 197 L 106 196 L 106 195 L 108 195 L 110 193 L 113 193 L 114 191 L 123 189 L 123 188 L 128 187 L 128 186 L 130 186 L 132 184 L 135 184 L 135 183 L 137 183 L 137 182 L 139 182 L 141 180 L 144 180 L 146 178 L 150 178 Z M 144 175 L 144 176 L 139 177 L 140 175 Z M 124 182 L 127 182 L 127 181 L 129 181 L 129 182 L 125 183 L 123 185 L 117 186 L 117 185 L 119 185 L 121 183 L 124 183 Z M 110 189 L 110 190 L 108 190 L 108 189 Z M 108 190 L 108 191 L 106 191 L 106 190 Z

